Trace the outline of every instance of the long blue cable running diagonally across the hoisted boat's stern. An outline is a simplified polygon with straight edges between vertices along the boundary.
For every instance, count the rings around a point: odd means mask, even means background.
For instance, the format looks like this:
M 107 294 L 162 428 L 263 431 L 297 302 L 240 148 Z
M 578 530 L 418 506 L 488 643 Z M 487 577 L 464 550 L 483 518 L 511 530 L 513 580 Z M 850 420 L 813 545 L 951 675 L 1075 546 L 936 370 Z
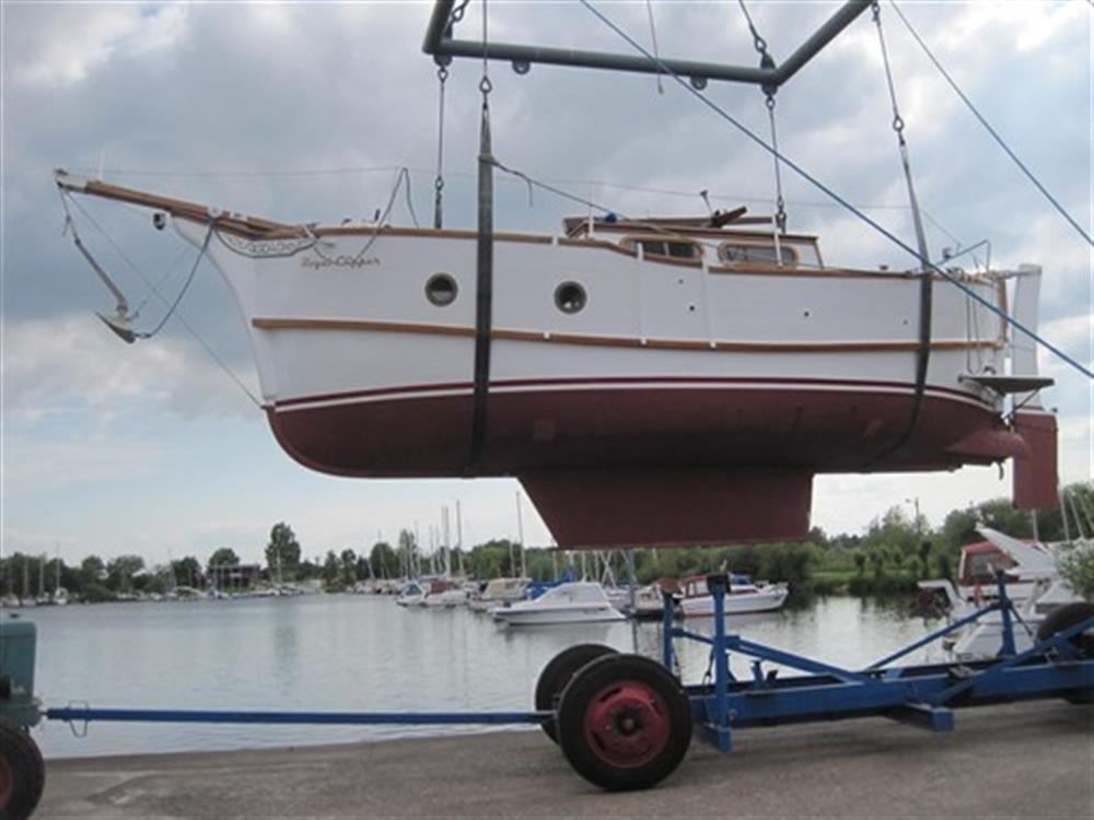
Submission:
M 699 92 L 698 90 L 691 87 L 691 84 L 687 80 L 683 79 L 679 74 L 677 74 L 675 71 L 673 71 L 663 60 L 660 60 L 656 57 L 654 57 L 645 48 L 643 48 L 640 43 L 638 43 L 637 40 L 635 40 L 629 34 L 627 34 L 619 26 L 617 26 L 615 23 L 613 23 L 606 16 L 604 16 L 604 14 L 602 14 L 596 9 L 596 7 L 594 7 L 592 4 L 592 2 L 590 0 L 580 0 L 580 2 L 581 2 L 582 5 L 584 5 L 586 9 L 589 9 L 589 11 L 591 11 L 593 13 L 593 15 L 595 15 L 608 28 L 610 28 L 613 32 L 615 32 L 616 34 L 618 34 L 624 40 L 626 40 L 631 47 L 633 47 L 635 50 L 639 51 L 642 56 L 644 56 L 653 65 L 655 65 L 661 71 L 664 71 L 673 80 L 675 80 L 685 91 L 687 91 L 688 93 L 693 94 L 703 105 L 706 105 L 708 108 L 710 108 L 717 115 L 719 115 L 726 122 L 729 122 L 730 125 L 732 125 L 733 127 L 735 127 L 738 131 L 741 131 L 743 134 L 745 134 L 745 137 L 747 137 L 748 139 L 750 139 L 753 142 L 755 142 L 757 145 L 759 145 L 760 148 L 763 148 L 769 154 L 771 154 L 773 156 L 777 156 L 779 160 L 781 160 L 787 165 L 787 167 L 791 168 L 800 177 L 802 177 L 807 183 L 810 183 L 811 185 L 815 186 L 823 194 L 825 194 L 826 196 L 830 197 L 833 200 L 835 200 L 840 206 L 842 206 L 843 208 L 846 208 L 850 213 L 854 214 L 860 220 L 862 220 L 863 222 L 865 222 L 868 225 L 870 225 L 872 229 L 874 229 L 874 231 L 876 231 L 882 236 L 884 236 L 885 238 L 887 238 L 894 245 L 896 245 L 897 247 L 904 249 L 905 251 L 907 251 L 908 254 L 910 254 L 913 258 L 918 259 L 919 262 L 920 262 L 920 265 L 922 265 L 924 267 L 924 270 L 930 270 L 930 271 L 933 271 L 933 272 L 938 273 L 943 279 L 945 279 L 947 282 L 950 282 L 955 288 L 957 288 L 963 293 L 965 293 L 965 295 L 967 295 L 969 298 L 974 300 L 975 302 L 979 303 L 980 305 L 984 305 L 984 307 L 986 307 L 988 311 L 990 311 L 991 313 L 993 313 L 997 316 L 999 316 L 1008 325 L 1010 325 L 1011 327 L 1015 328 L 1016 330 L 1020 330 L 1023 333 L 1025 333 L 1026 336 L 1028 336 L 1035 342 L 1037 342 L 1038 344 L 1040 344 L 1043 348 L 1045 348 L 1046 350 L 1050 351 L 1051 353 L 1056 354 L 1056 356 L 1058 356 L 1061 361 L 1067 362 L 1074 370 L 1079 371 L 1081 374 L 1083 374 L 1087 378 L 1094 379 L 1094 372 L 1092 372 L 1091 370 L 1089 370 L 1087 367 L 1085 367 L 1083 364 L 1081 364 L 1080 362 L 1078 362 L 1075 359 L 1073 359 L 1070 355 L 1068 355 L 1067 353 L 1064 353 L 1062 350 L 1060 350 L 1058 347 L 1056 347 L 1055 344 L 1052 344 L 1050 341 L 1048 341 L 1044 337 L 1038 336 L 1036 332 L 1034 332 L 1033 330 L 1031 330 L 1029 328 L 1027 328 L 1025 325 L 1023 325 L 1021 321 L 1019 321 L 1017 319 L 1015 319 L 1013 316 L 1010 316 L 1004 311 L 999 309 L 998 306 L 993 305 L 991 302 L 988 302 L 988 300 L 986 300 L 979 293 L 977 293 L 976 291 L 974 291 L 971 288 L 967 288 L 962 282 L 959 282 L 953 274 L 946 272 L 944 269 L 942 269 L 942 268 L 938 267 L 936 265 L 934 265 L 933 262 L 931 262 L 930 259 L 924 259 L 910 245 L 908 245 L 903 239 L 900 239 L 898 236 L 896 236 L 896 234 L 894 234 L 893 232 L 891 232 L 888 229 L 884 227 L 880 223 L 875 222 L 874 220 L 870 219 L 866 214 L 864 214 L 862 211 L 860 211 L 858 208 L 856 208 L 853 204 L 851 204 L 849 201 L 847 201 L 839 194 L 837 194 L 836 191 L 834 191 L 831 188 L 829 188 L 828 186 L 826 186 L 824 183 L 822 183 L 819 179 L 817 179 L 816 177 L 814 177 L 807 171 L 805 171 L 804 168 L 802 168 L 793 160 L 790 160 L 785 154 L 781 154 L 780 152 L 776 151 L 773 148 L 771 148 L 770 145 L 768 145 L 766 142 L 764 142 L 764 140 L 761 138 L 757 137 L 755 133 L 753 133 L 753 131 L 749 130 L 747 126 L 738 122 L 724 108 L 722 108 L 721 106 L 719 106 L 713 101 L 711 101 L 711 99 L 707 98 L 706 96 L 703 96 L 702 93 Z

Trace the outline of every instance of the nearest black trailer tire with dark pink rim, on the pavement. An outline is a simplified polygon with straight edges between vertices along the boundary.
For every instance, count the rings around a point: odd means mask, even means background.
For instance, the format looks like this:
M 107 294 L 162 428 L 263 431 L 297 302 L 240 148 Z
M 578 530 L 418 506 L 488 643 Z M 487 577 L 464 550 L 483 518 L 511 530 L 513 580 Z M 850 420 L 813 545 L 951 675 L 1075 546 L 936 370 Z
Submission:
M 570 765 L 610 792 L 664 780 L 691 742 L 687 692 L 661 664 L 640 655 L 583 666 L 563 690 L 556 719 Z

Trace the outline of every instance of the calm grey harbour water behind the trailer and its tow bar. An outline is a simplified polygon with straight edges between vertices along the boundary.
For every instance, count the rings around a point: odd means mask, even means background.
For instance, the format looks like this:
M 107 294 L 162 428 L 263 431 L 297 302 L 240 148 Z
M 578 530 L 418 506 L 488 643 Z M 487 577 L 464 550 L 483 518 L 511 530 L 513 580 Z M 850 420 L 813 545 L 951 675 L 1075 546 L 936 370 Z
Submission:
M 560 649 L 597 642 L 660 656 L 661 624 L 504 629 L 466 609 L 401 609 L 380 596 L 307 596 L 39 608 L 37 692 L 46 706 L 290 711 L 523 711 Z M 861 667 L 926 634 L 900 608 L 831 597 L 731 621 L 745 636 Z M 689 619 L 710 634 L 711 619 Z M 679 645 L 686 682 L 706 647 Z M 920 658 L 923 656 L 920 655 Z M 934 658 L 939 659 L 939 658 Z M 734 672 L 747 675 L 744 659 Z M 374 740 L 484 727 L 216 726 L 93 723 L 86 737 L 46 721 L 47 758 Z

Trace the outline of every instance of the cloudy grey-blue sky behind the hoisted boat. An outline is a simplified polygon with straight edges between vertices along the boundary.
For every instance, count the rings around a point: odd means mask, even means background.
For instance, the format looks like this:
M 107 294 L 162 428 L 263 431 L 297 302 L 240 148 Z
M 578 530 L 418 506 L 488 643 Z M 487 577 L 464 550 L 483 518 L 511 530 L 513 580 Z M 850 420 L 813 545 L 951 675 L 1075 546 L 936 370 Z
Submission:
M 666 57 L 756 65 L 734 2 L 596 7 Z M 199 269 L 155 338 L 125 345 L 94 317 L 113 302 L 68 236 L 51 171 L 292 223 L 337 223 L 382 208 L 410 172 L 412 212 L 431 223 L 437 67 L 422 54 L 430 5 L 411 2 L 0 4 L 2 28 L 2 551 L 67 561 L 141 554 L 201 560 L 220 547 L 259 560 L 288 522 L 304 554 L 361 551 L 400 528 L 428 548 L 441 509 L 473 544 L 550 536 L 512 480 L 356 480 L 311 472 L 275 442 L 226 285 Z M 748 3 L 778 61 L 837 8 Z M 1015 153 L 1080 225 L 1091 225 L 1092 7 L 1069 2 L 904 2 L 901 10 Z M 491 39 L 633 54 L 577 2 L 490 2 Z M 457 36 L 481 37 L 472 0 Z M 1091 246 L 964 108 L 888 3 L 882 21 L 932 253 L 990 241 L 991 263 L 1045 268 L 1041 331 L 1092 361 Z M 481 62 L 446 82 L 445 226 L 475 224 Z M 628 214 L 769 212 L 771 161 L 671 80 L 535 66 L 489 68 L 498 159 Z M 761 93 L 705 92 L 767 133 Z M 778 94 L 784 153 L 906 242 L 911 220 L 891 127 L 876 28 L 860 16 Z M 552 233 L 582 209 L 499 178 L 496 226 Z M 790 226 L 815 232 L 829 263 L 910 266 L 899 248 L 787 174 Z M 116 277 L 138 326 L 166 311 L 194 249 L 136 209 L 84 198 L 81 235 Z M 980 261 L 985 261 L 984 257 Z M 155 290 L 153 291 L 154 285 Z M 159 292 L 160 296 L 156 295 Z M 182 319 L 182 320 L 181 320 Z M 185 325 L 183 324 L 185 321 Z M 187 327 L 189 329 L 187 329 Z M 193 330 L 193 332 L 191 332 Z M 209 351 L 212 351 L 210 354 Z M 1061 426 L 1064 482 L 1090 480 L 1091 382 L 1043 353 L 1044 394 Z M 230 375 L 231 374 L 231 375 Z M 813 523 L 861 532 L 918 503 L 932 525 L 1005 496 L 1010 466 L 921 476 L 818 477 Z

